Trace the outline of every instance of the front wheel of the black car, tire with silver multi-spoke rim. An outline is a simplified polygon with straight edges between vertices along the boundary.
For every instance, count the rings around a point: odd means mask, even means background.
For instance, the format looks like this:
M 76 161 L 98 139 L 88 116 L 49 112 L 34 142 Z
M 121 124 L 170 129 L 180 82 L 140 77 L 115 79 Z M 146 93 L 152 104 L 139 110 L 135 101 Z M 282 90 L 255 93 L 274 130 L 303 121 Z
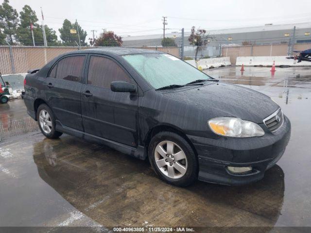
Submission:
M 197 179 L 198 162 L 190 144 L 177 133 L 160 132 L 151 139 L 149 161 L 167 183 L 188 186 Z

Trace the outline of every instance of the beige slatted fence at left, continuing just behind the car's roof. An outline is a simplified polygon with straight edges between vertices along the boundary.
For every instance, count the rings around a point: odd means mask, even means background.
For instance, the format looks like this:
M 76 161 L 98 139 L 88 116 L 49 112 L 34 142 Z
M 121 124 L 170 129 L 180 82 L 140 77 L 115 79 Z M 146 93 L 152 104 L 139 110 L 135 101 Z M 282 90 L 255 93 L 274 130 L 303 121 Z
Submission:
M 82 49 L 90 49 L 90 47 L 83 47 Z M 179 56 L 178 47 L 148 47 L 140 49 L 159 50 L 176 57 Z M 78 50 L 77 47 L 12 47 L 16 73 L 26 73 L 29 69 L 41 68 L 54 57 L 75 50 Z M 14 73 L 8 46 L 0 46 L 0 72 L 2 74 Z

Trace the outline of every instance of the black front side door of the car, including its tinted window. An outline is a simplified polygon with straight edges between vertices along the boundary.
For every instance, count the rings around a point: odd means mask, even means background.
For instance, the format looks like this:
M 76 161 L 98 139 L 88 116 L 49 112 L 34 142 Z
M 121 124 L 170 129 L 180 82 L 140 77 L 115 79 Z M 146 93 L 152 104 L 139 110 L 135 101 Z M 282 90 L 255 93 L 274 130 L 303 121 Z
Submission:
M 113 92 L 110 83 L 125 81 L 137 85 L 116 61 L 89 56 L 85 84 L 81 90 L 85 132 L 132 147 L 138 141 L 138 96 Z

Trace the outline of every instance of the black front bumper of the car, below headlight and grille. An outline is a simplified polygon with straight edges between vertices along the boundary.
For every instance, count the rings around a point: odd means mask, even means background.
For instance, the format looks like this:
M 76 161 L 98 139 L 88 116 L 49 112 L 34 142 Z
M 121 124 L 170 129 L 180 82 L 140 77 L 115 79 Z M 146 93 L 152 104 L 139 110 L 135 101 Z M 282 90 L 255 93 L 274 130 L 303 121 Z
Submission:
M 199 180 L 226 185 L 242 185 L 259 181 L 267 169 L 283 155 L 291 136 L 291 123 L 284 122 L 275 133 L 262 137 L 211 139 L 188 135 L 198 153 Z M 233 174 L 227 166 L 251 166 L 253 170 Z

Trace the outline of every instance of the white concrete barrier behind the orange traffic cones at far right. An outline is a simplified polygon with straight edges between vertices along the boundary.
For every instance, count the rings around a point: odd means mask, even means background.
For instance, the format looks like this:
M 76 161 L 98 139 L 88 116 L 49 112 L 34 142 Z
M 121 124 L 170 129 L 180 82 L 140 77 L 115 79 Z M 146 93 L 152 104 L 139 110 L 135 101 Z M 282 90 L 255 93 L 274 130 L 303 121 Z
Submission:
M 264 66 L 271 67 L 273 61 L 277 66 L 291 66 L 291 67 L 304 67 L 311 66 L 311 62 L 302 61 L 297 63 L 297 60 L 287 59 L 287 56 L 256 56 L 256 57 L 237 57 L 236 66 Z

